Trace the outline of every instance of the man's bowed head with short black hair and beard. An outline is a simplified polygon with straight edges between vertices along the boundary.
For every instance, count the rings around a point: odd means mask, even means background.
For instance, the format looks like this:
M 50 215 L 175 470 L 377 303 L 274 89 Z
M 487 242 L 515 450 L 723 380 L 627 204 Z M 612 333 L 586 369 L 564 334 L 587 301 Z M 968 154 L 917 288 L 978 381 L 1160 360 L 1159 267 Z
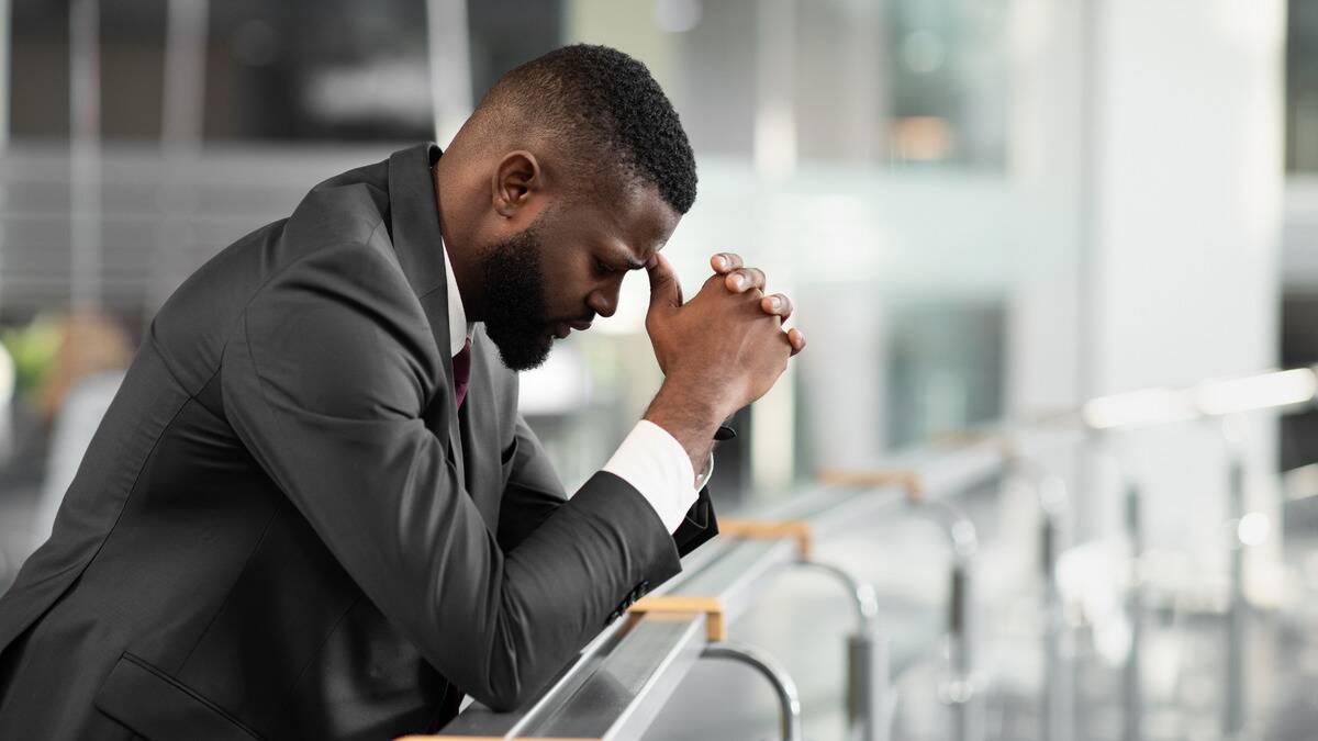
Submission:
M 507 73 L 436 165 L 469 318 L 513 369 L 609 316 L 696 198 L 677 113 L 645 65 L 568 46 Z

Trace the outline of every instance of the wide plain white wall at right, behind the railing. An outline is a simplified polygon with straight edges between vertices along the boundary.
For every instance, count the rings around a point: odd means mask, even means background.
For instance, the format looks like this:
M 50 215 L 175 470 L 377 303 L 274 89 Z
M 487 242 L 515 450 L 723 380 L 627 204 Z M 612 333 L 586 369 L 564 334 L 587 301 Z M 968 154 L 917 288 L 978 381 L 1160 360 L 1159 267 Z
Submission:
M 1191 384 L 1277 360 L 1284 0 L 1104 0 L 1093 26 L 1097 125 L 1087 262 L 1093 361 L 1082 389 Z M 1273 426 L 1252 421 L 1255 472 Z M 1155 545 L 1220 555 L 1222 446 L 1214 432 L 1143 432 Z M 1263 489 L 1253 496 L 1263 501 Z M 1115 523 L 1115 497 L 1090 523 Z

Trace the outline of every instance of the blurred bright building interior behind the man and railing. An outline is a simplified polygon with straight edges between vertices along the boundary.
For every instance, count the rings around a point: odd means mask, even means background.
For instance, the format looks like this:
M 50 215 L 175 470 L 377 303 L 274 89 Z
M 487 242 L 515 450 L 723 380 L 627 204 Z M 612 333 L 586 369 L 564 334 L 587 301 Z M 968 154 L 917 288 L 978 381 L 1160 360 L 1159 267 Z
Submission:
M 966 429 L 1318 363 L 1315 3 L 0 0 L 0 588 L 49 534 L 183 278 L 320 179 L 444 145 L 502 73 L 572 42 L 639 58 L 681 115 L 700 195 L 666 254 L 684 282 L 739 252 L 793 297 L 811 341 L 720 448 L 721 512 Z M 523 378 L 569 489 L 659 385 L 646 295 L 629 280 L 617 316 Z M 1093 607 L 1119 589 L 1122 562 L 1093 554 L 1128 530 L 1123 476 L 1148 493 L 1145 562 L 1165 595 L 1139 733 L 1224 734 L 1213 621 L 1231 589 L 1224 523 L 1247 510 L 1263 523 L 1246 559 L 1249 733 L 1318 737 L 1318 414 L 1289 411 L 1232 421 L 1243 510 L 1211 425 L 1122 435 L 1123 473 L 1075 450 L 1044 461 L 1068 484 L 1070 579 L 1089 605 L 1068 613 L 1078 737 L 1131 737 L 1130 625 Z M 1039 661 L 1019 609 L 1033 509 L 1010 487 L 975 496 L 991 734 L 1045 737 L 1021 668 Z M 942 599 L 937 542 L 896 517 L 830 547 L 898 605 L 895 650 L 917 666 Z M 828 620 L 791 616 L 846 607 L 792 588 L 746 630 L 799 672 L 808 734 L 840 737 L 841 658 L 800 639 Z M 936 700 L 920 703 L 933 680 L 911 676 L 899 737 L 948 737 Z M 709 713 L 679 694 L 654 738 L 770 734 L 771 699 L 733 684 L 743 715 L 696 732 Z

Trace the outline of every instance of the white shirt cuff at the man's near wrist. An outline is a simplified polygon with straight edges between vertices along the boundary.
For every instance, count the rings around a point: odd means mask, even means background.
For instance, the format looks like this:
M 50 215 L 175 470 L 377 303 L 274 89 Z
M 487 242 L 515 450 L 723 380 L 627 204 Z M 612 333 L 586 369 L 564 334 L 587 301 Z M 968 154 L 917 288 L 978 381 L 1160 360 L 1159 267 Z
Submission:
M 687 448 L 648 419 L 631 429 L 604 471 L 641 492 L 668 533 L 677 530 L 700 494 Z

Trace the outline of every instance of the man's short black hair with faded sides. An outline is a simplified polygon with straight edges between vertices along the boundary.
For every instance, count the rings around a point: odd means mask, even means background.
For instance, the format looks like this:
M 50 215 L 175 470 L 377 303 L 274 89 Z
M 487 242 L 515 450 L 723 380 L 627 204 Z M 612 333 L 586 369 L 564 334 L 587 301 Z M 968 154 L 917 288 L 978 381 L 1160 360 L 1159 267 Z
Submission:
M 478 111 L 506 104 L 563 137 L 583 166 L 621 166 L 677 214 L 696 202 L 687 132 L 650 70 L 627 54 L 588 44 L 555 49 L 500 78 Z

